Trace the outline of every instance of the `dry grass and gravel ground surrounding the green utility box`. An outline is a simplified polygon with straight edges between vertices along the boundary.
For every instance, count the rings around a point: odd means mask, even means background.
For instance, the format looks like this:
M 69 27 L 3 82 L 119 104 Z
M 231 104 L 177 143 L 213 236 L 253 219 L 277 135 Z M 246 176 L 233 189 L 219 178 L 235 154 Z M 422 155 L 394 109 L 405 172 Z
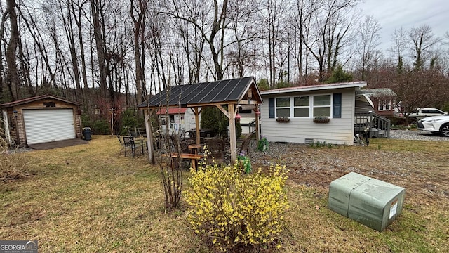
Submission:
M 449 141 L 373 139 L 368 147 L 286 145 L 286 252 L 449 252 Z M 253 161 L 252 161 L 253 162 Z M 257 165 L 257 162 L 253 162 Z M 379 233 L 327 208 L 328 186 L 351 171 L 406 188 L 403 214 Z

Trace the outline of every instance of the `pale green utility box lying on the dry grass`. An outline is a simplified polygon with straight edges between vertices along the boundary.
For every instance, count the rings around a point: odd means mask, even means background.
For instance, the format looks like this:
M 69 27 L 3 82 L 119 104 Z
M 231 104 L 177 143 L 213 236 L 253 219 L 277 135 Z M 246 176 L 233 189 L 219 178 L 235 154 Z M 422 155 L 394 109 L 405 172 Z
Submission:
M 377 231 L 402 212 L 406 189 L 355 172 L 330 182 L 328 208 Z

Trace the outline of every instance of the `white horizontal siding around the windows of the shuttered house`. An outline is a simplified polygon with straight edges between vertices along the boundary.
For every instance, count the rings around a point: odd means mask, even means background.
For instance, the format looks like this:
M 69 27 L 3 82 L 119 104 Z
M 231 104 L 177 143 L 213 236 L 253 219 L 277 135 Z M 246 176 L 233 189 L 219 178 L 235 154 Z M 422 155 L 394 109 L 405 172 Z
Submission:
M 262 135 L 268 141 L 281 141 L 290 143 L 306 143 L 306 139 L 326 141 L 326 143 L 353 145 L 354 143 L 354 89 L 325 90 L 319 93 L 289 93 L 267 95 L 262 98 L 298 96 L 298 95 L 321 95 L 329 93 L 342 93 L 342 117 L 331 118 L 326 124 L 313 122 L 313 118 L 290 118 L 290 122 L 276 122 L 276 118 L 269 118 L 269 106 L 267 103 L 261 106 Z

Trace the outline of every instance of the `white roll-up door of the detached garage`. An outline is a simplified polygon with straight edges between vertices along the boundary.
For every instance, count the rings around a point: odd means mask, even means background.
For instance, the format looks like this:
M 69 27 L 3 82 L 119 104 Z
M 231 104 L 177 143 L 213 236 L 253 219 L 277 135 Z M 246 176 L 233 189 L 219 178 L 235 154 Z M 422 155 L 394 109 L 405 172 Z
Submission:
M 76 138 L 72 109 L 23 110 L 27 144 Z

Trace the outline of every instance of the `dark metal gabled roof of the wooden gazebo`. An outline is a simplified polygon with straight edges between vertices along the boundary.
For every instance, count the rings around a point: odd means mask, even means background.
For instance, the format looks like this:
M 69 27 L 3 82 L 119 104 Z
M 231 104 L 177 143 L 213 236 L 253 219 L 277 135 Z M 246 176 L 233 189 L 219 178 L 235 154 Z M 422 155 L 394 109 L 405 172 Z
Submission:
M 158 108 L 167 104 L 167 91 L 169 107 L 189 107 L 211 104 L 239 103 L 240 100 L 248 99 L 248 90 L 251 99 L 262 103 L 262 97 L 255 84 L 253 77 L 242 77 L 237 79 L 219 80 L 214 82 L 203 82 L 198 84 L 185 84 L 170 86 L 160 93 L 152 96 L 149 100 L 138 105 L 138 108 Z

